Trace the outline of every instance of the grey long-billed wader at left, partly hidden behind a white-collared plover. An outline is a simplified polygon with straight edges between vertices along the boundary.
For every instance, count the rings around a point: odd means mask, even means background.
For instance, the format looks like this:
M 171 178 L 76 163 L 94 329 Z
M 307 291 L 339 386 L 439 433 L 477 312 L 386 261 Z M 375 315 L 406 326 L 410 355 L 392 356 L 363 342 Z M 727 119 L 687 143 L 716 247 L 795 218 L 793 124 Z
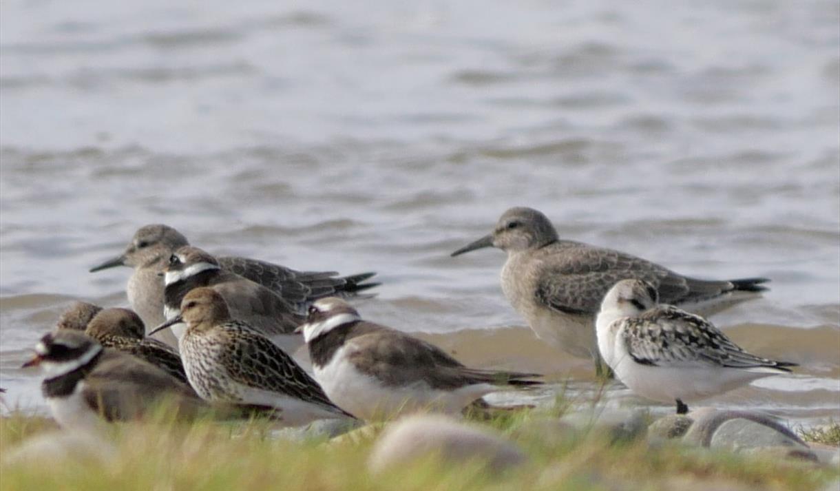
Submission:
M 144 225 L 134 233 L 122 255 L 92 267 L 91 272 L 117 266 L 134 268 L 127 288 L 129 304 L 145 325 L 159 325 L 165 318 L 164 282 L 158 273 L 168 264 L 172 253 L 184 245 L 189 245 L 186 237 L 172 227 L 164 224 Z M 339 277 L 336 272 L 300 272 L 244 257 L 219 257 L 218 265 L 223 270 L 272 289 L 300 314 L 305 314 L 307 305 L 316 298 L 329 295 L 354 297 L 379 284 L 365 282 L 375 273 Z

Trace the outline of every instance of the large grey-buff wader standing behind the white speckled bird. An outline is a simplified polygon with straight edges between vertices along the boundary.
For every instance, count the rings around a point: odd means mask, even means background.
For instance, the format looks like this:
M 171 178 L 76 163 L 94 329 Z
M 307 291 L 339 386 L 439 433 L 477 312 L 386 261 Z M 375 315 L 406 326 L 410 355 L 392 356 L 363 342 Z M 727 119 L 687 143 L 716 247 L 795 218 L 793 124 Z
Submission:
M 647 281 L 664 302 L 706 315 L 754 298 L 767 289 L 761 283 L 769 281 L 685 277 L 623 252 L 560 240 L 549 219 L 529 208 L 508 209 L 490 235 L 452 256 L 484 247 L 507 252 L 501 289 L 534 333 L 573 356 L 596 359 L 595 316 L 607 290 L 619 280 Z

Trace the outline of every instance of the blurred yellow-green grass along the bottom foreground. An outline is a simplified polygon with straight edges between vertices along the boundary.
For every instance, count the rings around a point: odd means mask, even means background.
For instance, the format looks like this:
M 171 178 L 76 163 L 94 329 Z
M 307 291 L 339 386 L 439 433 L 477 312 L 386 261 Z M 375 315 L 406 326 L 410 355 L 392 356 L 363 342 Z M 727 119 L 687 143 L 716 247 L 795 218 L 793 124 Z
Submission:
M 729 489 L 821 490 L 837 469 L 808 462 L 762 460 L 676 444 L 611 441 L 596 433 L 547 438 L 533 425 L 556 411 L 522 409 L 491 419 L 491 425 L 525 451 L 528 463 L 496 473 L 480 462 L 442 462 L 429 457 L 410 466 L 371 474 L 366 460 L 381 428 L 358 430 L 339 441 L 288 441 L 268 420 L 222 423 L 197 420 L 108 425 L 104 462 L 5 462 L 0 489 L 108 490 L 396 490 L 470 489 Z M 0 420 L 0 456 L 22 441 L 55 430 L 45 418 L 16 411 Z M 60 442 L 56 441 L 55 445 Z M 72 451 L 72 450 L 71 450 Z

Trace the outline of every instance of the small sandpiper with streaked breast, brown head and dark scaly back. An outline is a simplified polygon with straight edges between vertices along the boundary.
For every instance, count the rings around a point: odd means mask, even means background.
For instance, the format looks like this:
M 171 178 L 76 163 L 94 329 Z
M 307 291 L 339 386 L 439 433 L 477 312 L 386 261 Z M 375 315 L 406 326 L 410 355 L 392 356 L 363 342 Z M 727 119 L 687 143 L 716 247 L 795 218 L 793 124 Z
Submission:
M 287 425 L 347 417 L 282 351 L 247 323 L 232 320 L 213 288 L 196 288 L 181 303 L 181 316 L 157 329 L 186 322 L 178 346 L 186 376 L 208 401 L 276 409 Z

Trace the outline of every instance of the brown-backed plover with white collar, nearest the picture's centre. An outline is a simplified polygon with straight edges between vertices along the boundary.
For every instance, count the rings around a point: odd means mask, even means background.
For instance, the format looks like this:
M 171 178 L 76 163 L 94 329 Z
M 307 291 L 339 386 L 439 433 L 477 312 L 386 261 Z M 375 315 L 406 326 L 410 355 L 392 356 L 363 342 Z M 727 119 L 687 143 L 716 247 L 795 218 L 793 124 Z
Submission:
M 362 320 L 340 298 L 309 308 L 303 332 L 315 378 L 335 404 L 365 420 L 422 409 L 459 413 L 497 385 L 531 385 L 534 373 L 469 368 L 432 344 Z

